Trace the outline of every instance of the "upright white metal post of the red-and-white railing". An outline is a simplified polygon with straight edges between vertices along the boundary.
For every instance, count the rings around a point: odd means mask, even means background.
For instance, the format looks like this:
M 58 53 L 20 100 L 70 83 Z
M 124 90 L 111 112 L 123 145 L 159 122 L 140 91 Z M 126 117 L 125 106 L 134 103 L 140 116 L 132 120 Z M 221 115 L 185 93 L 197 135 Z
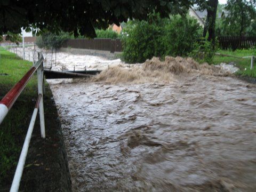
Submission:
M 38 53 L 38 58 L 40 59 L 40 55 Z M 37 86 L 38 86 L 38 94 L 42 94 L 42 98 L 39 102 L 39 116 L 40 116 L 40 126 L 41 126 L 41 137 L 45 138 L 45 124 L 44 124 L 44 101 L 43 101 L 43 61 L 37 69 Z

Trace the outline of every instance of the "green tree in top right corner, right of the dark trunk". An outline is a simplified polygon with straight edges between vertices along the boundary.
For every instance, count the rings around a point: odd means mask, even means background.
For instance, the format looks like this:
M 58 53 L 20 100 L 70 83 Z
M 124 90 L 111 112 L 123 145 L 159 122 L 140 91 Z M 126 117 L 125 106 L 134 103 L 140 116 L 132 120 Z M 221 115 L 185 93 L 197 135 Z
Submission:
M 228 0 L 225 9 L 228 11 L 223 21 L 227 35 L 246 35 L 246 30 L 255 22 L 255 1 Z M 252 26 L 253 27 L 253 26 Z

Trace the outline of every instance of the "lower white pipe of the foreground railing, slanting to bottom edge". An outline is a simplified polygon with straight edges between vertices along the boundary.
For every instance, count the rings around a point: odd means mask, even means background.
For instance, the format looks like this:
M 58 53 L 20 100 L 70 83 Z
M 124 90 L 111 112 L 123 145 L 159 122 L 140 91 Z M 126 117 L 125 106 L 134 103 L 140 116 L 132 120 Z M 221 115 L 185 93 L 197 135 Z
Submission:
M 31 135 L 32 135 L 34 125 L 35 125 L 35 121 L 36 121 L 37 111 L 38 111 L 38 109 L 35 108 L 32 118 L 31 118 L 31 121 L 30 121 L 30 124 L 29 124 L 29 127 L 28 127 L 28 132 L 27 132 L 27 135 L 25 138 L 25 142 L 24 142 L 22 150 L 21 150 L 19 162 L 17 165 L 17 169 L 15 171 L 15 174 L 14 174 L 10 192 L 17 192 L 19 190 L 20 180 L 21 180 L 23 168 L 24 168 L 27 153 L 28 153 L 29 142 L 30 142 Z

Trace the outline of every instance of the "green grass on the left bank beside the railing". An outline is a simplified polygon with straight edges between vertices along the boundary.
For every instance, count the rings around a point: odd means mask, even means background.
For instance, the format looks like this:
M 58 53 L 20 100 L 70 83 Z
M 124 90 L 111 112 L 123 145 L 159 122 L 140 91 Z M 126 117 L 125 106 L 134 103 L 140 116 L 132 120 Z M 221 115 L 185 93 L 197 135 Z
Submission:
M 26 74 L 32 62 L 23 61 L 1 47 L 0 54 L 1 100 Z M 9 182 L 13 177 L 36 98 L 37 78 L 34 75 L 0 125 L 0 186 L 4 185 L 7 180 Z

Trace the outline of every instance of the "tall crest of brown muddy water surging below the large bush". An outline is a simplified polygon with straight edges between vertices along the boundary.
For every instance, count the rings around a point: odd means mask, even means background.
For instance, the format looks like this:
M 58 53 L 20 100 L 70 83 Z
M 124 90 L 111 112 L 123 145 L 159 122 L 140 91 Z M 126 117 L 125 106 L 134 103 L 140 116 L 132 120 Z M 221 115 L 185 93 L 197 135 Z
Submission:
M 166 57 L 165 61 L 153 57 L 141 65 L 131 68 L 123 66 L 110 67 L 92 78 L 93 82 L 106 83 L 147 83 L 175 81 L 175 77 L 185 74 L 230 75 L 229 71 L 207 63 L 199 64 L 192 58 Z

